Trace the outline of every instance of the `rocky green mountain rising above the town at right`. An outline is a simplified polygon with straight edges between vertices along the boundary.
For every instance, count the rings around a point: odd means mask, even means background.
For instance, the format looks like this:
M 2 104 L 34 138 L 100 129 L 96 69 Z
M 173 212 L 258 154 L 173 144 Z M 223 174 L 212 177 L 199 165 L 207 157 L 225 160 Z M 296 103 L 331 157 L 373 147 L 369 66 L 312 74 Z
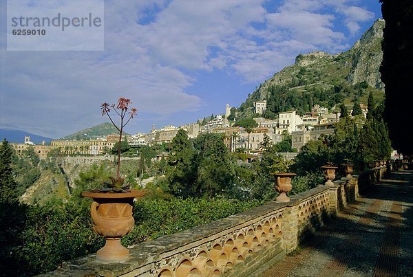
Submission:
M 305 113 L 313 104 L 332 108 L 339 102 L 349 106 L 354 100 L 367 103 L 370 91 L 375 99 L 382 100 L 384 85 L 379 68 L 384 25 L 383 19 L 377 19 L 346 52 L 299 54 L 294 65 L 275 73 L 248 96 L 237 117 L 253 116 L 256 100 L 267 100 L 267 118 L 288 109 Z

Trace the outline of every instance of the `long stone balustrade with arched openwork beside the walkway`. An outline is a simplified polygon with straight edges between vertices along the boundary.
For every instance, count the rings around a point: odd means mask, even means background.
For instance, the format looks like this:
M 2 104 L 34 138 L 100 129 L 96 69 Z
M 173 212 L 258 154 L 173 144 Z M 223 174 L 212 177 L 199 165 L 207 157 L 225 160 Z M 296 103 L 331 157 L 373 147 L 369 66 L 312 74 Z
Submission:
M 103 263 L 91 254 L 63 263 L 43 276 L 251 276 L 297 248 L 299 242 L 348 203 L 357 201 L 359 181 L 372 186 L 386 167 L 366 176 L 342 178 L 240 214 L 129 247 L 123 263 Z

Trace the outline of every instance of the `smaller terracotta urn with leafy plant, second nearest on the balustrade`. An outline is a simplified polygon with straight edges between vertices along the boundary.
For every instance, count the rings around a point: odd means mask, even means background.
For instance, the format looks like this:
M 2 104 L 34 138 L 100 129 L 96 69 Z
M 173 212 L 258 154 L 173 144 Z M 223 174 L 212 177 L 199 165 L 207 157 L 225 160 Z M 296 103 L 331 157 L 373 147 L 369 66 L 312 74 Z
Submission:
M 275 164 L 271 166 L 271 175 L 275 177 L 274 188 L 279 192 L 279 195 L 275 198 L 277 202 L 288 202 L 290 198 L 286 195 L 293 188 L 291 186 L 291 178 L 295 176 L 295 173 L 288 173 L 291 162 L 279 157 L 275 161 Z

